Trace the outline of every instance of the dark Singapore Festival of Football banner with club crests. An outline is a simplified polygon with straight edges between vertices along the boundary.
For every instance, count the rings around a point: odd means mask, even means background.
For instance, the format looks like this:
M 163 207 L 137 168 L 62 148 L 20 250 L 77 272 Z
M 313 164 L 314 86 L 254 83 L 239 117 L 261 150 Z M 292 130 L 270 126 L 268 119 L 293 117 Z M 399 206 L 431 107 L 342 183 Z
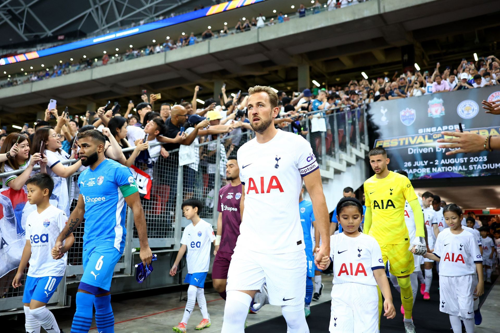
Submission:
M 442 92 L 371 103 L 375 147 L 383 147 L 390 170 L 402 169 L 409 179 L 477 177 L 500 174 L 498 152 L 445 155 L 438 148 L 441 131 L 500 135 L 500 115 L 484 113 L 482 100 L 500 100 L 500 86 Z

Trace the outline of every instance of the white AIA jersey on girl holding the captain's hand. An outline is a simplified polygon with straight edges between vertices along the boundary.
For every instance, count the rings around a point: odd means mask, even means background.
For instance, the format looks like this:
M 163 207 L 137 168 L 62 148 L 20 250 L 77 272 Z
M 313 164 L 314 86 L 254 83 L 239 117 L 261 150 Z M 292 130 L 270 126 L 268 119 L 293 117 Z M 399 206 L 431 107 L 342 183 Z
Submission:
M 344 233 L 330 236 L 333 284 L 359 283 L 376 286 L 373 270 L 383 269 L 382 253 L 376 240 L 366 234 L 357 237 Z

